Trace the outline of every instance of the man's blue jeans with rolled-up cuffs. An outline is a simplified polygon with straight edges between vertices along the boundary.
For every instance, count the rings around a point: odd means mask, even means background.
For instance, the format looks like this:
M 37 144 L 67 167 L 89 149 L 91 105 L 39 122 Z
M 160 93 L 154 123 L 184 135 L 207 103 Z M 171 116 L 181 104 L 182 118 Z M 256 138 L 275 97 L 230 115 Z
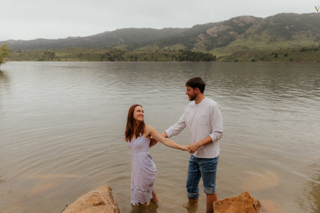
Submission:
M 188 198 L 196 199 L 199 197 L 199 181 L 201 177 L 204 193 L 214 194 L 217 191 L 216 177 L 218 160 L 219 156 L 215 158 L 190 156 L 187 176 Z

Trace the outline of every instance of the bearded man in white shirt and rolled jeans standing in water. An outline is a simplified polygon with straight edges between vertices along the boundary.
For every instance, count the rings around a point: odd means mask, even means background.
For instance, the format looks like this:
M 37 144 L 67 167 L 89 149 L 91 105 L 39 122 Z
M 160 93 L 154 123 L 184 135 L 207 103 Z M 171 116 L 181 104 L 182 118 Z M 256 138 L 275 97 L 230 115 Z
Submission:
M 170 138 L 178 135 L 185 127 L 190 136 L 190 159 L 187 176 L 189 202 L 198 202 L 199 181 L 202 177 L 204 192 L 207 195 L 207 211 L 213 211 L 217 200 L 216 171 L 219 158 L 219 140 L 223 135 L 223 122 L 220 105 L 204 96 L 205 83 L 200 77 L 186 82 L 189 103 L 179 121 L 162 135 Z M 156 144 L 151 139 L 150 147 Z

